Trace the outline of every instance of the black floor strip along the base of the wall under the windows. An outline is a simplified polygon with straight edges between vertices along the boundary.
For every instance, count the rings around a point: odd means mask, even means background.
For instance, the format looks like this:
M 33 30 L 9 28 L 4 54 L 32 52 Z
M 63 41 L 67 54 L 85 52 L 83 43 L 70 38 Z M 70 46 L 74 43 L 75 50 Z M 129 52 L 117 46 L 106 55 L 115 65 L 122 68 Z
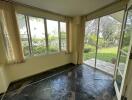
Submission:
M 45 79 L 45 78 L 47 78 L 49 76 L 51 77 L 51 76 L 53 76 L 55 74 L 61 73 L 61 72 L 65 71 L 65 70 L 71 70 L 74 67 L 75 67 L 74 64 L 67 64 L 67 65 L 60 66 L 58 68 L 46 71 L 44 73 L 40 73 L 40 74 L 31 76 L 31 77 L 25 78 L 23 80 L 19 80 L 19 81 L 13 82 L 13 83 L 10 84 L 7 92 L 19 89 L 19 88 L 23 87 L 23 85 L 25 86 L 25 85 L 29 85 L 29 84 L 38 82 L 38 81 L 43 80 L 43 79 Z

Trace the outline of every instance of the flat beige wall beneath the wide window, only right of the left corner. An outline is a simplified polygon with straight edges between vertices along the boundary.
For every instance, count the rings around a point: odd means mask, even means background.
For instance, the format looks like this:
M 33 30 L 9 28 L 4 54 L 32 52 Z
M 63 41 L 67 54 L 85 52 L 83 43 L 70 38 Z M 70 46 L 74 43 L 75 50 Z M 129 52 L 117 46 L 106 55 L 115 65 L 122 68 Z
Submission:
M 16 81 L 68 63 L 71 63 L 71 54 L 36 56 L 27 59 L 24 63 L 7 66 L 7 73 L 10 81 Z

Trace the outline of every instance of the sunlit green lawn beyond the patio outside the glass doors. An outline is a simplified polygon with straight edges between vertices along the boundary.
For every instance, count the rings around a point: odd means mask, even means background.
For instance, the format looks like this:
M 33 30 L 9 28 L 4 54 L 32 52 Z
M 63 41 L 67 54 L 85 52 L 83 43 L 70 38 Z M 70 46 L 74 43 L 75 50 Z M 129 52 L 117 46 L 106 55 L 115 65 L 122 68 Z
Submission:
M 116 56 L 117 56 L 117 47 L 102 48 L 99 49 L 97 53 L 97 59 L 107 62 L 111 62 L 111 59 L 116 58 Z M 94 57 L 95 57 L 95 52 L 84 53 L 84 61 Z

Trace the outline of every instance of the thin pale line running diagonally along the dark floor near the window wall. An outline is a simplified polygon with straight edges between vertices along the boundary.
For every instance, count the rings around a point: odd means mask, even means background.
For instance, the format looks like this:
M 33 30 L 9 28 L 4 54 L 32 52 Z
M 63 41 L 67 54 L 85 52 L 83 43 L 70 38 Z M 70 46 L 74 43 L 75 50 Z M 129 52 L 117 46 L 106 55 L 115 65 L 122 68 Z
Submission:
M 34 85 L 34 84 L 39 83 L 39 82 L 41 82 L 41 81 L 43 81 L 43 80 L 46 80 L 46 79 L 49 79 L 49 78 L 51 78 L 51 77 L 53 77 L 53 76 L 59 75 L 59 74 L 61 74 L 61 73 L 64 73 L 64 72 L 66 72 L 66 71 L 68 71 L 68 70 L 70 70 L 70 69 L 72 69 L 72 68 L 66 69 L 66 70 L 61 71 L 61 72 L 56 73 L 56 74 L 53 74 L 53 75 L 51 75 L 51 76 L 49 76 L 49 77 L 46 77 L 46 78 L 41 79 L 41 80 L 39 80 L 39 81 L 33 82 L 33 83 L 31 83 L 31 84 L 22 86 L 22 87 L 20 87 L 19 89 L 21 89 L 21 88 L 23 88 L 23 87 L 28 87 L 28 86 Z M 13 90 L 13 91 L 10 91 L 10 92 L 7 92 L 7 91 L 6 91 L 3 95 L 5 96 L 6 93 L 8 94 L 8 93 L 11 93 L 11 92 L 14 92 L 14 91 L 17 91 L 17 90 L 18 90 L 18 89 Z M 3 97 L 3 96 L 2 96 L 2 97 Z M 3 100 L 3 98 L 2 98 L 1 100 Z

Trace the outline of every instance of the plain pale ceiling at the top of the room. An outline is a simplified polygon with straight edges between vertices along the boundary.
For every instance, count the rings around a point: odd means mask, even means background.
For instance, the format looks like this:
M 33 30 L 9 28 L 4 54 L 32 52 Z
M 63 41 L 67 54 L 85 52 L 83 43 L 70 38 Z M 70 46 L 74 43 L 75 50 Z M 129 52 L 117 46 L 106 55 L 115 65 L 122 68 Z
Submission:
M 117 0 L 13 0 L 67 16 L 93 12 Z

